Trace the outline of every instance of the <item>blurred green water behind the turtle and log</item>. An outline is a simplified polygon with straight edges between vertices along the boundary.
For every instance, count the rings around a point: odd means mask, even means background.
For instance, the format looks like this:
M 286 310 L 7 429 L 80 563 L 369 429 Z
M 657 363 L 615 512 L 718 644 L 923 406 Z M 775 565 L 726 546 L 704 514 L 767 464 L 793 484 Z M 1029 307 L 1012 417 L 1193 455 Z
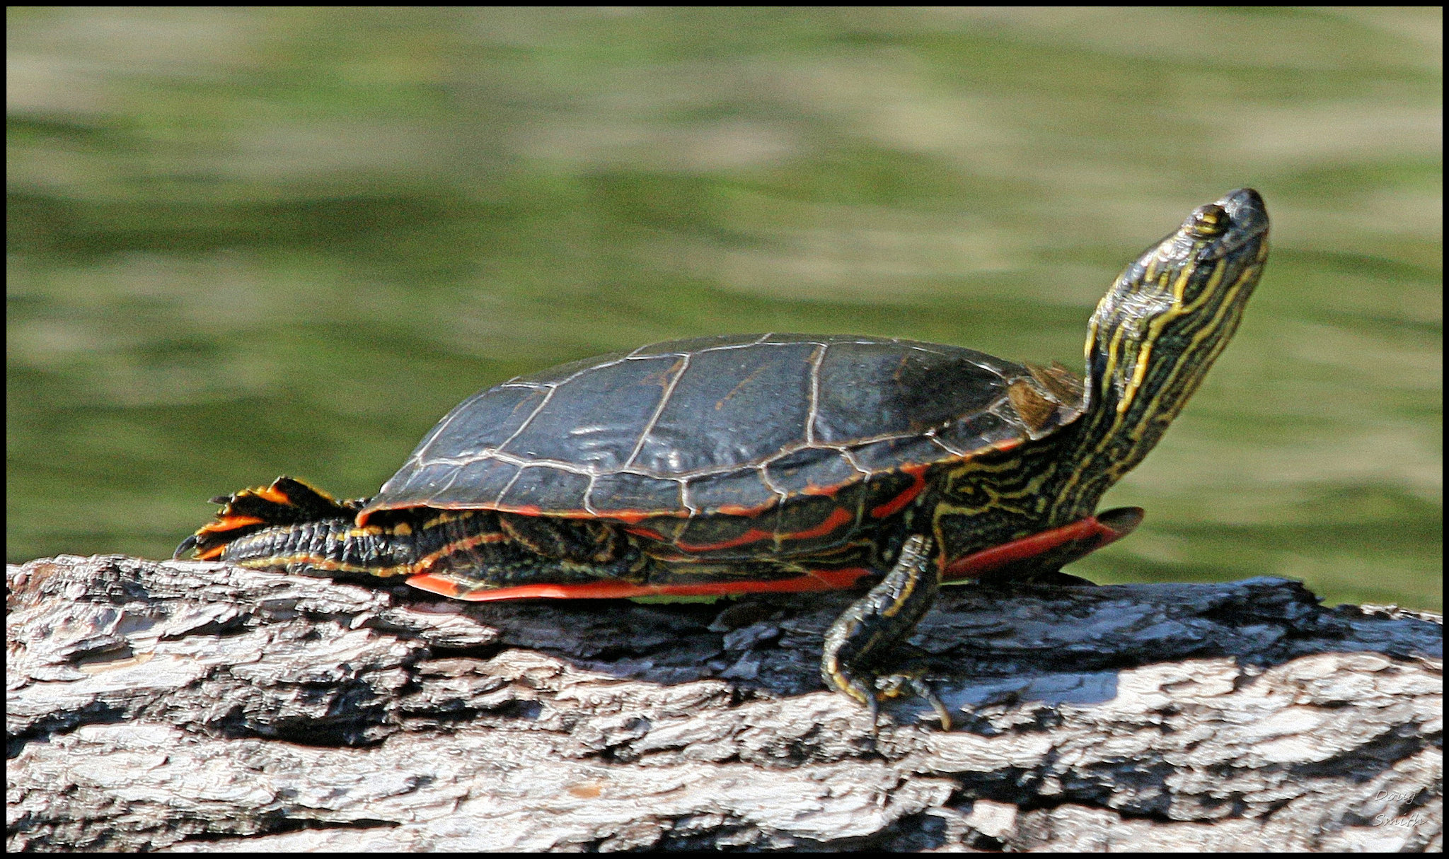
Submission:
M 14 9 L 6 550 L 368 495 L 458 400 L 651 340 L 1081 365 L 1259 188 L 1237 338 L 1097 581 L 1440 604 L 1439 9 Z

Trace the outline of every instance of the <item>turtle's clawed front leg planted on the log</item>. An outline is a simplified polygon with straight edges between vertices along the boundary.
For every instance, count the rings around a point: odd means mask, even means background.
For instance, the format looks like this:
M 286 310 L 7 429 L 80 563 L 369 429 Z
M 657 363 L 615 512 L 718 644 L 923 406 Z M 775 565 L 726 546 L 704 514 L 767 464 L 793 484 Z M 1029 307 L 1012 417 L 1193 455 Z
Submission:
M 840 614 L 824 636 L 820 676 L 832 690 L 851 695 L 871 711 L 871 730 L 880 716 L 880 698 L 891 698 L 910 688 L 926 698 L 940 726 L 951 730 L 951 714 L 940 698 L 917 672 L 877 675 L 890 652 L 911 632 L 936 603 L 940 574 L 932 563 L 932 539 L 913 535 L 901 546 L 895 566 Z M 880 690 L 880 691 L 877 691 Z

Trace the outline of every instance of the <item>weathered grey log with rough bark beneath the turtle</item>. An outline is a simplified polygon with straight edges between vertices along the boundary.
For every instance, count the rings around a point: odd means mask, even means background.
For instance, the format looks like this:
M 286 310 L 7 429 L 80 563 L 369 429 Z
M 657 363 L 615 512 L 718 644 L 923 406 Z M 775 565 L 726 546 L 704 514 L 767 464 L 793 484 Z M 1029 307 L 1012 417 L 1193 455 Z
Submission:
M 1442 630 L 1301 584 L 951 588 L 962 714 L 826 692 L 849 594 L 465 604 L 9 571 L 9 849 L 1436 850 Z

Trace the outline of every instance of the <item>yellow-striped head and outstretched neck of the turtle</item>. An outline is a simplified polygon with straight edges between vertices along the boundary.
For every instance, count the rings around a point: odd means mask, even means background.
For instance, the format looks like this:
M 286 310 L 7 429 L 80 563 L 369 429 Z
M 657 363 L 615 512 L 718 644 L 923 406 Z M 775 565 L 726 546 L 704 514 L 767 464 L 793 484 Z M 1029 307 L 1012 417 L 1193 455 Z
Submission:
M 1266 258 L 1268 210 L 1258 191 L 1239 188 L 1194 209 L 1122 272 L 1087 335 L 1072 481 L 1081 495 L 1069 503 L 1095 506 L 1158 443 L 1237 330 Z

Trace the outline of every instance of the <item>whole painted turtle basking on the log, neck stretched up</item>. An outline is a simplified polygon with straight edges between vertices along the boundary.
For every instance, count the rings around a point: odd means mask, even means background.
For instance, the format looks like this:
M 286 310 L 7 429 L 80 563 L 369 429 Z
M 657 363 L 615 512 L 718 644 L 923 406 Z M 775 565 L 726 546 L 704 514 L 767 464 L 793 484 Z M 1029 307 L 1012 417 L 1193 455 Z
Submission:
M 1266 239 L 1252 188 L 1194 209 L 1097 304 L 1084 377 L 894 338 L 669 340 L 464 400 L 371 498 L 290 477 L 216 497 L 175 556 L 458 600 L 861 588 L 823 682 L 872 726 L 914 692 L 949 730 L 904 639 L 942 584 L 1058 581 L 1137 526 L 1097 503 L 1233 336 Z

